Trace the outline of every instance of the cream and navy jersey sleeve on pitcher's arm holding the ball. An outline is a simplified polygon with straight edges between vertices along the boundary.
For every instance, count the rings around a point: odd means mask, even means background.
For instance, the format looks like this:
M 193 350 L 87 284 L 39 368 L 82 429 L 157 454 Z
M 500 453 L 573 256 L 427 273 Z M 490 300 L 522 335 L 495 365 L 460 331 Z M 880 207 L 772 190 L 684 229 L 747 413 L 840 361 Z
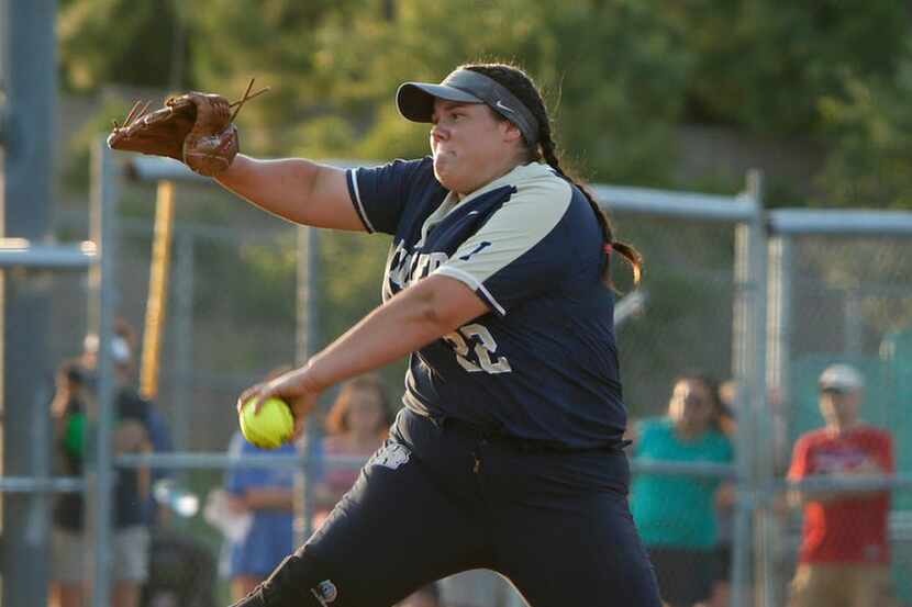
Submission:
M 505 316 L 560 282 L 572 266 L 572 243 L 558 229 L 571 199 L 572 189 L 561 179 L 523 188 L 433 273 L 464 282 Z

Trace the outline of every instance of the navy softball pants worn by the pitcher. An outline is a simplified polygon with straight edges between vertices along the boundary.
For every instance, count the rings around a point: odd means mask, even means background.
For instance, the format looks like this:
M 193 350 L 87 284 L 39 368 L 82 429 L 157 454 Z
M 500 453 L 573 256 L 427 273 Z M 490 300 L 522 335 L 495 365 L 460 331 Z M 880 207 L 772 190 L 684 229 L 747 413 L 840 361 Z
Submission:
M 388 607 L 479 567 L 533 607 L 660 607 L 624 453 L 525 447 L 400 412 L 320 530 L 237 607 Z

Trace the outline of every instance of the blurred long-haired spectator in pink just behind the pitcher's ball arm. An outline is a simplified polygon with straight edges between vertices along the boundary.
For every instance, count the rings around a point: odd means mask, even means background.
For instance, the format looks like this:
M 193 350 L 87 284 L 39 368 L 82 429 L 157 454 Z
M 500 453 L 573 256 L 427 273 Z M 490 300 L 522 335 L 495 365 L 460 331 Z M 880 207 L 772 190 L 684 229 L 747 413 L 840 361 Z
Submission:
M 348 456 L 367 460 L 387 438 L 392 421 L 386 386 L 379 375 L 367 374 L 348 381 L 326 415 L 326 456 Z M 327 465 L 314 486 L 316 515 L 314 528 L 352 488 L 360 467 Z

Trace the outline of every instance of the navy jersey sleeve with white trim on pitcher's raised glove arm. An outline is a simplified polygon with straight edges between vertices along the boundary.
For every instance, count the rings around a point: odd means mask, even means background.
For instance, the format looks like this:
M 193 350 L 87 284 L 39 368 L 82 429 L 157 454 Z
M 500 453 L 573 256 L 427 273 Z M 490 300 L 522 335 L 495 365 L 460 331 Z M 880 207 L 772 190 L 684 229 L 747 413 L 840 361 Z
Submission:
M 412 183 L 426 160 L 393 160 L 345 171 L 348 194 L 368 232 L 396 234 Z

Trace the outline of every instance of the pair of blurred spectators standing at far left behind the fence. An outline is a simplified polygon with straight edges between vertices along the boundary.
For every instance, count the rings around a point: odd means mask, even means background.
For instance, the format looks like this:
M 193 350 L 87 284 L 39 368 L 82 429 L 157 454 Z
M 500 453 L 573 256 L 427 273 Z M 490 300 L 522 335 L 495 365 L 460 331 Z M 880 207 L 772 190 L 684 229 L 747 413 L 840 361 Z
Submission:
M 88 335 L 82 352 L 58 369 L 56 393 L 51 404 L 54 454 L 58 472 L 67 476 L 84 473 L 90 445 L 87 426 L 98 413 L 97 335 Z M 111 445 L 115 456 L 166 452 L 173 449 L 165 417 L 155 403 L 144 398 L 135 385 L 136 336 L 118 321 L 111 340 L 114 370 L 114 427 Z M 149 576 L 152 529 L 167 524 L 167 509 L 153 497 L 153 487 L 167 471 L 149 468 L 120 468 L 113 480 L 111 504 L 111 604 L 138 607 Z M 53 510 L 51 598 L 60 607 L 85 605 L 86 580 L 93 554 L 86 530 L 91 508 L 81 493 L 63 494 Z

